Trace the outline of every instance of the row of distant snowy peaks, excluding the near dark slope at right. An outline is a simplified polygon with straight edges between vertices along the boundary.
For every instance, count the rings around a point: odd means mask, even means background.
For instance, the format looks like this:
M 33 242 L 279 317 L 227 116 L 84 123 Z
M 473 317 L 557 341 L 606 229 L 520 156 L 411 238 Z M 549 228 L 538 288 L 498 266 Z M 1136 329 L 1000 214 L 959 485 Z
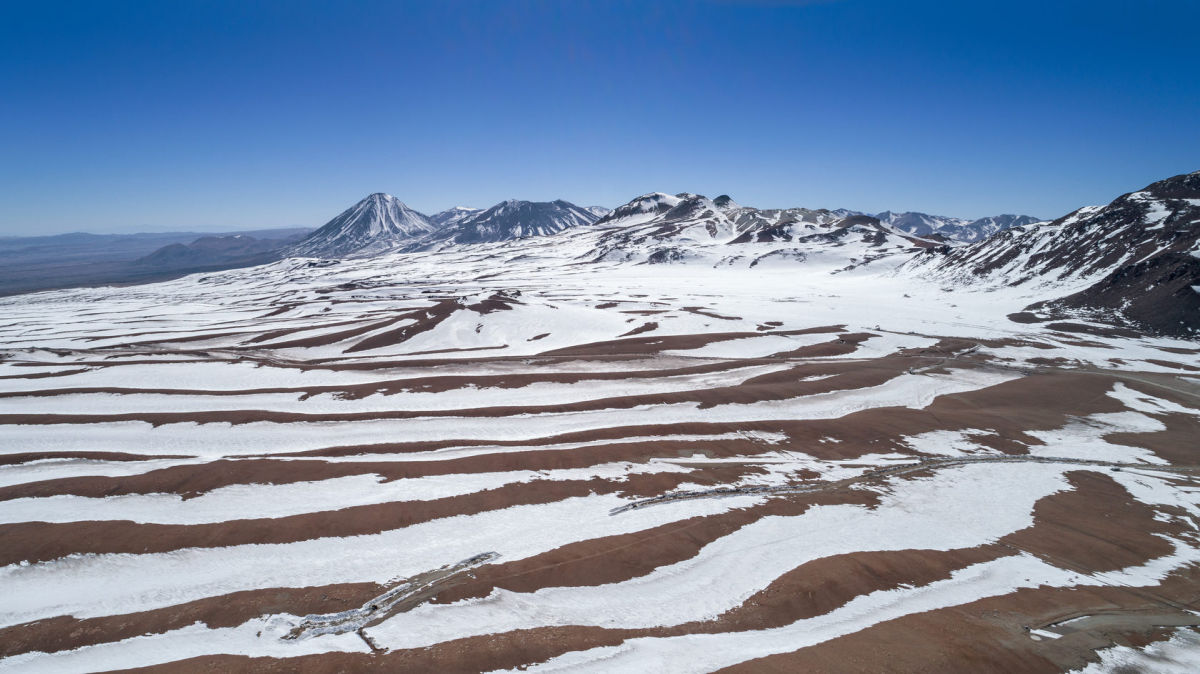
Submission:
M 880 218 L 874 218 L 845 209 L 760 210 L 743 206 L 727 194 L 709 199 L 688 192 L 674 195 L 652 192 L 616 210 L 581 207 L 564 200 L 510 199 L 486 210 L 455 206 L 426 216 L 395 197 L 377 193 L 284 253 L 292 257 L 371 257 L 550 236 L 575 227 L 596 224 L 605 234 L 592 246 L 593 259 L 674 261 L 691 257 L 680 246 L 751 241 L 802 246 L 823 241 L 842 246 L 858 234 L 876 248 L 872 254 L 865 255 L 874 259 L 880 249 L 895 252 L 913 246 L 973 241 L 1012 224 L 1033 221 L 1027 216 L 962 221 L 924 213 L 880 215 Z M 869 219 L 847 219 L 860 216 Z M 835 225 L 840 221 L 846 221 L 844 227 Z M 794 258 L 800 253 L 793 251 L 787 254 Z M 862 255 L 852 258 L 851 264 L 860 264 L 863 259 Z

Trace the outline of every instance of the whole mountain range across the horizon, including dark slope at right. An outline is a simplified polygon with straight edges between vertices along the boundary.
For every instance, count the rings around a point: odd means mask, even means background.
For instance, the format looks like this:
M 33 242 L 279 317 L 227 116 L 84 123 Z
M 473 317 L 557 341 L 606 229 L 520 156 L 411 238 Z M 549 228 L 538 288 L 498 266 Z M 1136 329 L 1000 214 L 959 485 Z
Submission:
M 756 209 L 726 194 L 710 199 L 686 192 L 650 192 L 613 210 L 560 199 L 510 199 L 488 209 L 455 206 L 425 215 L 390 194 L 374 193 L 307 234 L 176 239 L 137 259 L 89 269 L 78 282 L 53 271 L 66 258 L 47 257 L 70 237 L 2 240 L 0 254 L 10 258 L 10 267 L 20 269 L 22 276 L 8 283 L 8 291 L 16 293 L 144 282 L 289 257 L 372 258 L 460 246 L 502 246 L 517 254 L 536 249 L 578 263 L 805 264 L 830 273 L 870 265 L 893 269 L 898 278 L 919 275 L 947 287 L 1028 289 L 1031 303 L 1022 320 L 1087 315 L 1162 335 L 1193 336 L 1200 332 L 1198 223 L 1200 173 L 1162 180 L 1105 206 L 1086 206 L 1049 222 L 1016 215 L 964 219 L 919 212 Z M 41 257 L 23 267 L 23 257 L 34 254 L 29 251 Z

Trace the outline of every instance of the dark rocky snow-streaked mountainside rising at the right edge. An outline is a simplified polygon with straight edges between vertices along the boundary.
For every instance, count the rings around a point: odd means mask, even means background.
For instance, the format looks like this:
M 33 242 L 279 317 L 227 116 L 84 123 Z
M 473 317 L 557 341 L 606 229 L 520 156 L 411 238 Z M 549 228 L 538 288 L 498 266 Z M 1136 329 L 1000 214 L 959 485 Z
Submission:
M 1144 329 L 1188 336 L 1200 331 L 1198 258 L 1200 171 L 972 246 L 930 251 L 906 267 L 959 283 L 1040 288 L 1060 299 L 1033 308 L 1116 312 Z

